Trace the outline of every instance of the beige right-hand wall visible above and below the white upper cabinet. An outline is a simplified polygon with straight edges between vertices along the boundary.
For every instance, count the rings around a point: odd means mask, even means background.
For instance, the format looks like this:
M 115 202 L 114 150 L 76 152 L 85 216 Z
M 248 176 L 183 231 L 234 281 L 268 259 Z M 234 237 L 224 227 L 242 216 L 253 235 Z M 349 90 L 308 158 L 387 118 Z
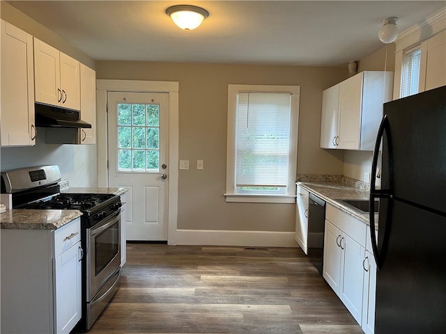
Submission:
M 387 55 L 387 57 L 386 57 Z M 383 46 L 378 51 L 358 61 L 357 70 L 362 71 L 394 71 L 395 68 L 395 44 Z M 371 173 L 371 160 L 373 152 L 345 151 L 344 171 L 345 176 L 355 180 L 367 181 L 364 173 Z M 368 181 L 367 181 L 368 182 Z

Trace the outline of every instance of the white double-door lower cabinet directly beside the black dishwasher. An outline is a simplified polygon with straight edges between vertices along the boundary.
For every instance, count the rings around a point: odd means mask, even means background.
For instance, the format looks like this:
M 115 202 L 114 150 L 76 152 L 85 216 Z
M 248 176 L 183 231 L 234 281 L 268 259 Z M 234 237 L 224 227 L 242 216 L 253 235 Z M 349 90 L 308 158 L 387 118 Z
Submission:
M 328 204 L 325 214 L 323 277 L 362 324 L 366 225 Z

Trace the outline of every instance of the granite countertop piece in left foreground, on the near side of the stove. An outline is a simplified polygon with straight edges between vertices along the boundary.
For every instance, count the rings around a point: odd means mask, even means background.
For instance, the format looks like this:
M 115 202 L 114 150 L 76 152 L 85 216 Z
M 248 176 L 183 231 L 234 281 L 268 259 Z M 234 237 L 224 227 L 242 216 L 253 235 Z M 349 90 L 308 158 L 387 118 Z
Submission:
M 82 216 L 79 210 L 11 209 L 0 214 L 0 228 L 7 230 L 56 230 Z

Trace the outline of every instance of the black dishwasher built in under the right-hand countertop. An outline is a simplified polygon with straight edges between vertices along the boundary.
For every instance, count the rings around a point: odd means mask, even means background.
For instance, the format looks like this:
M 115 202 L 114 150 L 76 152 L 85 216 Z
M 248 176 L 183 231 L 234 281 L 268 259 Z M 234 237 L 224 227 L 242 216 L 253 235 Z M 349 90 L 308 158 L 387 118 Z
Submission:
M 322 275 L 323 232 L 325 230 L 325 200 L 309 193 L 308 257 Z

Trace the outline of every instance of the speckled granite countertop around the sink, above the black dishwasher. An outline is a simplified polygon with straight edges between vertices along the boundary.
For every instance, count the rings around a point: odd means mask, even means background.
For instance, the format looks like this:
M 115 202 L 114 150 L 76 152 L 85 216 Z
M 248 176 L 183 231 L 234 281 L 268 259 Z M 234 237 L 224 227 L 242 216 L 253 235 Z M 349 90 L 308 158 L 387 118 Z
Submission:
M 337 200 L 369 200 L 369 191 L 349 186 L 342 182 L 296 182 L 309 192 L 322 198 L 325 202 L 330 203 L 334 207 L 341 209 L 342 211 L 350 214 L 351 216 L 359 219 L 360 221 L 369 225 L 369 214 L 363 214 L 351 207 L 343 205 Z M 375 215 L 376 220 L 378 214 Z

